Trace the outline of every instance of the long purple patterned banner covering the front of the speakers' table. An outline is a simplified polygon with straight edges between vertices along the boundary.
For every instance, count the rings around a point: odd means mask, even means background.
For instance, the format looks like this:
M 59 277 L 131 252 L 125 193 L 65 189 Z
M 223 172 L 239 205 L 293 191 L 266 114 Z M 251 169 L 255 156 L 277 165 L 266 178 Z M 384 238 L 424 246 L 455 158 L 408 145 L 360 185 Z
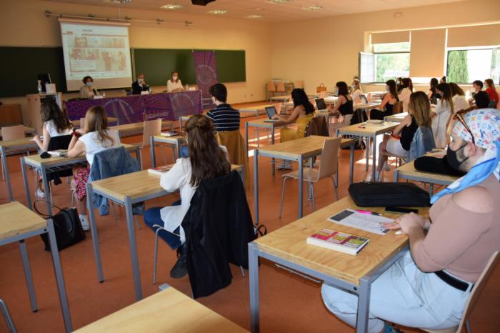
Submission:
M 119 119 L 120 124 L 130 124 L 146 119 L 177 120 L 179 116 L 201 114 L 201 93 L 179 91 L 151 95 L 133 95 L 109 99 L 81 99 L 66 102 L 69 119 L 80 119 L 94 105 L 102 105 L 106 114 Z

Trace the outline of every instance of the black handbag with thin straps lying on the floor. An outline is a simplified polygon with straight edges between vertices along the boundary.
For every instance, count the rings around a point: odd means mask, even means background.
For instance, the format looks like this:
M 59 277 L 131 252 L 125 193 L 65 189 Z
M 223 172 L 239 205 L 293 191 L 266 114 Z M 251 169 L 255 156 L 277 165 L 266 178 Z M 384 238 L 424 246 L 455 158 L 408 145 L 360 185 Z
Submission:
M 36 202 L 44 202 L 44 200 L 36 200 L 33 203 L 33 209 L 36 213 L 49 219 L 49 215 L 41 213 L 36 209 Z M 50 204 L 50 203 L 49 203 Z M 57 214 L 50 217 L 54 222 L 54 231 L 56 232 L 57 249 L 66 249 L 71 245 L 76 244 L 85 239 L 84 229 L 81 227 L 80 218 L 75 207 L 72 208 L 59 208 L 52 204 L 52 207 L 59 209 Z M 41 240 L 44 241 L 45 251 L 51 252 L 49 235 L 41 234 Z

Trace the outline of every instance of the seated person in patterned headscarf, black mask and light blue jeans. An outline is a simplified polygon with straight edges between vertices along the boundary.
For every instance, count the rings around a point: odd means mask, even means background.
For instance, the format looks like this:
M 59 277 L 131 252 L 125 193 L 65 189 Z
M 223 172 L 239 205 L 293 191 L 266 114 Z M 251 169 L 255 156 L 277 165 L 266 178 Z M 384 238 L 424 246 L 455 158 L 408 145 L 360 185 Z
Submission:
M 500 111 L 458 114 L 447 156 L 467 174 L 434 195 L 429 219 L 407 214 L 401 228 L 410 249 L 371 284 L 368 332 L 458 326 L 474 283 L 500 250 Z M 326 307 L 354 326 L 358 298 L 323 284 Z

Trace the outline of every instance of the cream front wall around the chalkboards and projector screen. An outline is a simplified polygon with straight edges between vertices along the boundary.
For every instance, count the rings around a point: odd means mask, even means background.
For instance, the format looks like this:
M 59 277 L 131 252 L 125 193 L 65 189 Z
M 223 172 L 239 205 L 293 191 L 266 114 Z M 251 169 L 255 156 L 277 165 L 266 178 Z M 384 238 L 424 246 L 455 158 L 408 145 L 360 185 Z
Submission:
M 0 0 L 1 46 L 61 46 L 61 31 L 56 17 L 47 18 L 44 11 L 72 15 L 104 17 L 130 16 L 132 19 L 192 21 L 193 26 L 177 24 L 131 23 L 130 46 L 153 49 L 244 49 L 246 51 L 246 82 L 227 84 L 229 102 L 265 99 L 264 84 L 271 76 L 270 25 L 249 19 L 172 14 L 162 10 L 109 8 L 54 3 L 38 0 Z M 36 61 L 36 59 L 34 59 Z M 34 84 L 36 83 L 34 73 Z M 182 79 L 182 73 L 180 73 Z M 167 78 L 165 78 L 166 81 Z M 147 78 L 146 78 L 147 81 Z M 153 87 L 163 91 L 166 86 Z M 107 91 L 106 96 L 124 94 L 123 90 Z M 64 94 L 64 99 L 77 96 Z M 20 103 L 26 109 L 25 98 L 0 99 L 4 103 Z

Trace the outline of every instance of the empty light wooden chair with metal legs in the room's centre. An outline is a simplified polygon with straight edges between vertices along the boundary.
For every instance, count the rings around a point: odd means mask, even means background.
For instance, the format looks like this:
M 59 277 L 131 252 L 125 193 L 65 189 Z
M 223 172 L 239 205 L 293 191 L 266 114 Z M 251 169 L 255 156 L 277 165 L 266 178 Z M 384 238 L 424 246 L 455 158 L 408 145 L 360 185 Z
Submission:
M 332 183 L 334 184 L 335 197 L 339 200 L 339 194 L 337 193 L 337 186 L 334 174 L 339 172 L 339 148 L 342 139 L 329 139 L 325 140 L 323 144 L 323 151 L 321 151 L 321 158 L 319 160 L 319 169 L 304 168 L 304 182 L 307 183 L 308 192 L 311 192 L 311 200 L 313 205 L 313 211 L 316 210 L 316 203 L 314 202 L 314 183 L 319 182 L 321 179 L 330 177 Z M 286 189 L 287 179 L 299 179 L 299 171 L 289 172 L 284 174 L 283 177 L 283 187 L 281 189 L 281 205 L 279 208 L 279 218 L 281 219 L 283 213 L 283 201 Z M 308 197 L 309 200 L 309 197 Z

